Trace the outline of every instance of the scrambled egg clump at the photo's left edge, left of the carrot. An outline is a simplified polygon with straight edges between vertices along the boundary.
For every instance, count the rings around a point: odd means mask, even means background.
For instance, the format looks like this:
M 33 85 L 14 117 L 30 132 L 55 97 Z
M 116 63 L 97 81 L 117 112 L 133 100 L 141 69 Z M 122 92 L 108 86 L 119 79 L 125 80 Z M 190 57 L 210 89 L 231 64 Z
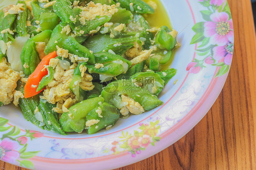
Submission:
M 0 101 L 4 105 L 10 104 L 14 100 L 14 104 L 19 104 L 19 99 L 23 98 L 20 91 L 16 91 L 17 81 L 20 79 L 20 73 L 12 70 L 5 58 L 0 61 Z

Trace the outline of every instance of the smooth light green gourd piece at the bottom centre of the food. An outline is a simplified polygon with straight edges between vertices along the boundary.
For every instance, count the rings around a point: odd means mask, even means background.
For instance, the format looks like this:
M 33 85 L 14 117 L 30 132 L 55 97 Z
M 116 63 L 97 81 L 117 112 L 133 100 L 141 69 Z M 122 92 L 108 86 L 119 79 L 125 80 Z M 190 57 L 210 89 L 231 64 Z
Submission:
M 102 97 L 83 100 L 68 108 L 69 112 L 61 115 L 60 124 L 65 132 L 82 133 L 86 124 L 87 114 L 104 102 Z

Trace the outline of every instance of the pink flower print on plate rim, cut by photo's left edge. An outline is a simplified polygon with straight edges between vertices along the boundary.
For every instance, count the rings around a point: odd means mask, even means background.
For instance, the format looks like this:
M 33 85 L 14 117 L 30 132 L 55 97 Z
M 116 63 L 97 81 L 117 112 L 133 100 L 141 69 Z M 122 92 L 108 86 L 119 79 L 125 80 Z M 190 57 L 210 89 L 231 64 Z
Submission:
M 0 159 L 9 163 L 15 163 L 20 157 L 20 153 L 15 149 L 19 148 L 19 143 L 15 140 L 5 138 L 0 143 Z

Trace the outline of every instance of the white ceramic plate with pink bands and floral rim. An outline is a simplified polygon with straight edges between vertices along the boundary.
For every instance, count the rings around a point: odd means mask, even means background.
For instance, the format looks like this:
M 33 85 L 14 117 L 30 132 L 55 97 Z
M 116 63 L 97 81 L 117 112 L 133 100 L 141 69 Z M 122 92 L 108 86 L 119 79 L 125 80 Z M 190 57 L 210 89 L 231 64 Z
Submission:
M 226 0 L 161 1 L 182 44 L 171 65 L 177 75 L 160 95 L 164 105 L 95 135 L 67 136 L 37 128 L 12 105 L 1 107 L 1 160 L 36 170 L 113 169 L 146 159 L 189 132 L 225 83 L 234 49 L 232 18 Z

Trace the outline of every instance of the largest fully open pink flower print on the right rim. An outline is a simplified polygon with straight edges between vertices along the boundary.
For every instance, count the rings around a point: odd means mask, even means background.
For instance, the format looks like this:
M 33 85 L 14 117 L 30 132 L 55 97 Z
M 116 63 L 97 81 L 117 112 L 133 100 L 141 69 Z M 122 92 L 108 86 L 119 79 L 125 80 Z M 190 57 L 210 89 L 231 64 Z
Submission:
M 233 20 L 228 20 L 225 12 L 215 12 L 210 15 L 212 21 L 205 22 L 205 37 L 210 37 L 212 45 L 225 45 L 229 41 L 234 42 Z

